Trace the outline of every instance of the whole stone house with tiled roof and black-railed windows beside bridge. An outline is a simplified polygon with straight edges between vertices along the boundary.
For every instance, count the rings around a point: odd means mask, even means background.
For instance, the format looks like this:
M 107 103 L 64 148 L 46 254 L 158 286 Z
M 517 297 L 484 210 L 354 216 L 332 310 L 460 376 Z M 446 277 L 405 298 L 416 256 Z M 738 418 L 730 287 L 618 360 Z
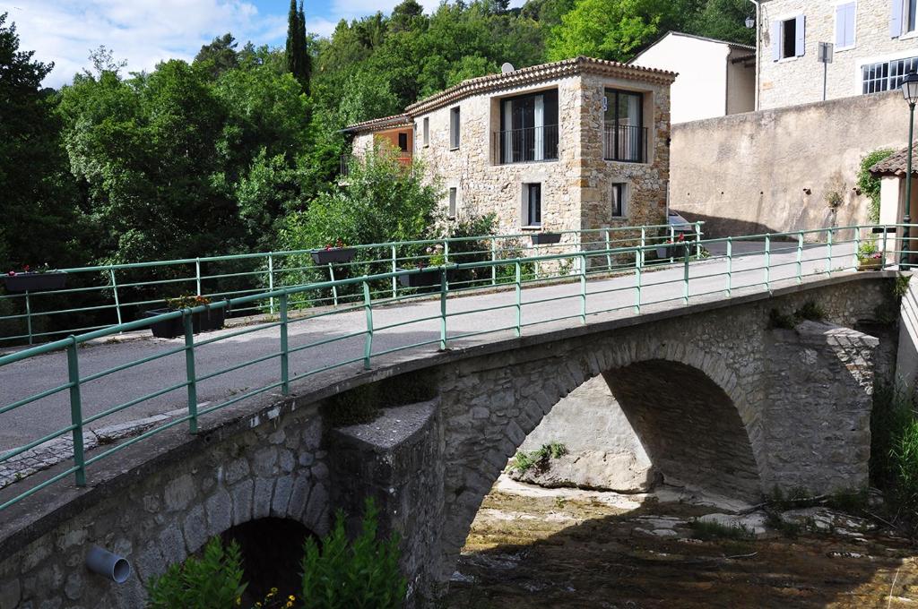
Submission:
M 439 176 L 449 216 L 501 232 L 663 224 L 674 72 L 578 57 L 459 83 L 347 127 Z

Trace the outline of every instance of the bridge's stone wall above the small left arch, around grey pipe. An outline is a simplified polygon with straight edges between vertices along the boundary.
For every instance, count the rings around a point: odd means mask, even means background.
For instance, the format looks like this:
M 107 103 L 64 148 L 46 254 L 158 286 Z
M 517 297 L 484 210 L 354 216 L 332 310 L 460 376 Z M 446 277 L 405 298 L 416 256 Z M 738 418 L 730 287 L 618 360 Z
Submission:
M 324 534 L 329 468 L 315 408 L 277 415 L 207 444 L 177 467 L 136 478 L 26 548 L 0 557 L 0 609 L 140 609 L 151 576 L 230 526 L 274 516 Z M 84 567 L 98 545 L 129 560 L 118 585 Z

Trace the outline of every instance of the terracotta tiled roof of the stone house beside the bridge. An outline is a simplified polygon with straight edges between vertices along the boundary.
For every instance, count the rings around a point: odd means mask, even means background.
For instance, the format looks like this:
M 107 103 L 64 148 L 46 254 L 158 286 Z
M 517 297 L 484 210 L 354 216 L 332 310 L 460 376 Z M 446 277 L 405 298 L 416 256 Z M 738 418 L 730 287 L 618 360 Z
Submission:
M 467 81 L 433 94 L 405 108 L 405 113 L 397 116 L 386 116 L 364 121 L 344 128 L 344 131 L 375 131 L 383 127 L 396 127 L 408 125 L 413 116 L 425 114 L 443 105 L 453 104 L 460 99 L 471 95 L 499 91 L 532 83 L 543 83 L 580 73 L 601 74 L 616 76 L 632 81 L 655 84 L 671 84 L 676 80 L 676 72 L 668 72 L 657 68 L 644 68 L 628 65 L 619 61 L 596 60 L 589 57 L 575 57 L 569 60 L 554 61 L 534 65 L 530 68 L 521 68 L 506 74 L 488 74 Z M 397 121 L 403 122 L 397 122 Z

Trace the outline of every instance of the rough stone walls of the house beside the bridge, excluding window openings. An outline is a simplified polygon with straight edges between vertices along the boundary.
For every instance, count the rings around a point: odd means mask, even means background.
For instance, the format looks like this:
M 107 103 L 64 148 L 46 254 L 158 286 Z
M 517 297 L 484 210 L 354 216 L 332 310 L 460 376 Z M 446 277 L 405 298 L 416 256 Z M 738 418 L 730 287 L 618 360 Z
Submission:
M 592 70 L 594 65 L 614 66 L 615 70 Z M 554 69 L 556 66 L 560 68 Z M 539 71 L 544 75 L 538 75 Z M 578 58 L 466 81 L 453 87 L 454 94 L 453 89 L 447 90 L 409 106 L 407 114 L 416 134 L 414 156 L 440 179 L 444 210 L 449 205 L 449 189 L 455 188 L 458 216 L 493 213 L 502 233 L 526 230 L 523 184 L 527 183 L 542 184 L 542 229 L 546 231 L 664 224 L 669 84 L 674 77 L 671 72 L 648 73 L 647 69 Z M 475 85 L 487 79 L 491 79 L 487 87 Z M 644 94 L 646 162 L 603 159 L 607 87 Z M 558 159 L 501 164 L 495 147 L 501 100 L 549 89 L 558 92 Z M 451 149 L 450 113 L 456 107 L 460 138 L 458 148 Z M 422 136 L 425 120 L 430 129 L 426 145 Z M 353 127 L 355 152 L 371 146 L 375 131 L 372 126 L 367 129 Z M 623 216 L 612 216 L 612 183 L 628 184 Z M 565 236 L 565 240 L 572 238 Z

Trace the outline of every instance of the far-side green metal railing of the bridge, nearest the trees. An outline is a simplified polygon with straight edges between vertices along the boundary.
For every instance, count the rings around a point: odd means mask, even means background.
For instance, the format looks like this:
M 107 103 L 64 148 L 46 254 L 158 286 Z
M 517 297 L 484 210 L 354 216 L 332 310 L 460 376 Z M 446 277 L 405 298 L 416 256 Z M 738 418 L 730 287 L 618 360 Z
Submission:
M 321 281 L 328 277 L 329 293 L 310 293 L 308 302 L 297 302 L 292 308 L 322 304 L 338 305 L 356 302 L 359 293 L 340 294 L 336 279 L 353 275 L 381 275 L 406 266 L 417 266 L 431 260 L 463 262 L 471 260 L 505 260 L 528 258 L 558 250 L 610 249 L 628 245 L 655 245 L 689 230 L 701 237 L 701 222 L 680 227 L 655 225 L 645 227 L 609 227 L 591 230 L 567 230 L 556 246 L 533 246 L 532 233 L 485 235 L 465 238 L 424 239 L 353 246 L 355 260 L 317 266 L 309 258 L 309 249 L 270 251 L 231 256 L 214 256 L 182 260 L 158 260 L 128 264 L 62 269 L 69 285 L 53 292 L 0 293 L 0 345 L 35 344 L 56 337 L 85 332 L 130 321 L 143 315 L 144 309 L 165 305 L 166 296 L 205 295 L 211 299 L 235 298 L 248 294 L 270 293 L 278 287 L 294 287 Z M 470 249 L 471 248 L 471 249 Z M 536 262 L 538 264 L 538 262 Z M 611 253 L 606 257 L 605 271 L 620 268 Z M 539 270 L 537 269 L 537 274 Z M 602 271 L 598 267 L 591 273 Z M 497 285 L 501 277 L 492 267 L 489 277 L 469 283 Z M 397 297 L 397 279 L 377 280 L 372 286 L 377 295 L 387 291 Z M 233 315 L 277 312 L 275 297 L 254 299 L 243 307 L 234 307 Z

